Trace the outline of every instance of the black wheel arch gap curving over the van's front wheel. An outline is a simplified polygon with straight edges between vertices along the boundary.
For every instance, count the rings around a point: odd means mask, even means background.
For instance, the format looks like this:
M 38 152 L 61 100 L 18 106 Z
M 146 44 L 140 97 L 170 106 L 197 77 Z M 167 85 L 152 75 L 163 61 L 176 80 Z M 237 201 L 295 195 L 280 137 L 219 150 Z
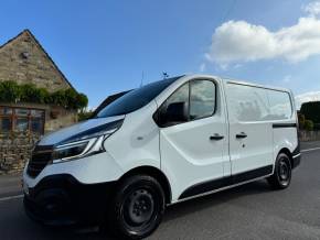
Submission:
M 171 186 L 170 186 L 169 179 L 162 171 L 160 171 L 159 168 L 157 168 L 154 166 L 147 165 L 147 166 L 135 167 L 135 168 L 128 171 L 127 173 L 125 173 L 120 177 L 119 181 L 122 181 L 129 176 L 134 176 L 134 175 L 138 175 L 138 174 L 146 174 L 146 175 L 154 177 L 159 182 L 159 184 L 161 185 L 161 187 L 164 192 L 166 204 L 171 204 L 172 192 L 171 192 Z

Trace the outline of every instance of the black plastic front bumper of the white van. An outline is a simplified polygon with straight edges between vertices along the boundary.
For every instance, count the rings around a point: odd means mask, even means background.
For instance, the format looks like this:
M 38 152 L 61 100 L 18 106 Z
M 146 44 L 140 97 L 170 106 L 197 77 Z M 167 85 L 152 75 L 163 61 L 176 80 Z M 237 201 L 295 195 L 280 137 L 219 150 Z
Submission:
M 47 226 L 99 223 L 115 184 L 82 184 L 68 174 L 46 176 L 24 194 L 24 209 L 30 218 Z

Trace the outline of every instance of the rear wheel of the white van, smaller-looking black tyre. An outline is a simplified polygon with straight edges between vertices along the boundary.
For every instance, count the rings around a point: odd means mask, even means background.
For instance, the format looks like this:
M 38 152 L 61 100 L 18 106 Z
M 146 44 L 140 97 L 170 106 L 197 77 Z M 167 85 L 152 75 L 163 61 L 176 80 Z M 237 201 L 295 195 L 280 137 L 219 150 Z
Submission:
M 277 156 L 275 172 L 267 178 L 275 189 L 285 189 L 291 182 L 291 162 L 287 154 L 280 153 Z

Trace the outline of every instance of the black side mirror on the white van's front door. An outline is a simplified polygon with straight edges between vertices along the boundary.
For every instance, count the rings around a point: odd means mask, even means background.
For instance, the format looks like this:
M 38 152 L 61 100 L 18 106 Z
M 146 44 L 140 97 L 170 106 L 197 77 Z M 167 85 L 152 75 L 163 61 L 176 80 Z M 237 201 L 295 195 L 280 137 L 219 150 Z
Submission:
M 168 123 L 188 121 L 188 103 L 184 101 L 170 103 L 164 116 Z

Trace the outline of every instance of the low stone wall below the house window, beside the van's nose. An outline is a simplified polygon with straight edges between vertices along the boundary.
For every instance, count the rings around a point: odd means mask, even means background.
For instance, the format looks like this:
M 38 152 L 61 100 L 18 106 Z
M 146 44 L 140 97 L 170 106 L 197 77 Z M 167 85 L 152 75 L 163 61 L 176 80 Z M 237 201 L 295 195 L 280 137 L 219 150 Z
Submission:
M 0 134 L 0 175 L 21 173 L 39 138 L 28 132 Z

